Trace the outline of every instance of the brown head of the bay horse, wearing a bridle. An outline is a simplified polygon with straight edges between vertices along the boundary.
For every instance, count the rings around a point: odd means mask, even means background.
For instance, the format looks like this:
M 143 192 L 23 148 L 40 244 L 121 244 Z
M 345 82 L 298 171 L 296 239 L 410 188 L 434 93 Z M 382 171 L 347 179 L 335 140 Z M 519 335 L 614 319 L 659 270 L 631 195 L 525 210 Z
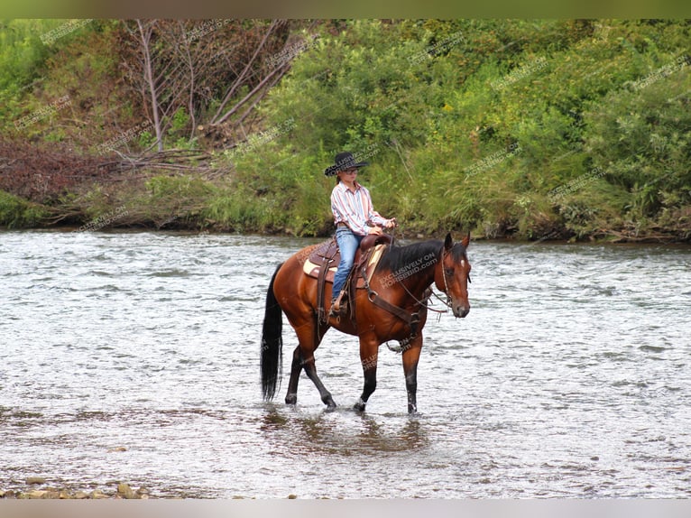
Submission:
M 437 289 L 447 294 L 454 316 L 461 319 L 470 311 L 470 302 L 468 302 L 470 262 L 465 254 L 469 243 L 470 234 L 465 236 L 460 243 L 454 243 L 451 234 L 447 234 L 441 249 L 441 258 L 434 273 Z

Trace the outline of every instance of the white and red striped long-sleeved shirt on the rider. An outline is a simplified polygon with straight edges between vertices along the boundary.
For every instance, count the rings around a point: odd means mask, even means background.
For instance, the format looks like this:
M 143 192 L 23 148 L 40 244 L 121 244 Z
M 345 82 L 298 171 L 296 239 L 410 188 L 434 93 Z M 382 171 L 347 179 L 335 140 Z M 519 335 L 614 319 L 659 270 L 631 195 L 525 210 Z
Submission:
M 340 181 L 331 191 L 331 211 L 334 221 L 345 223 L 358 236 L 369 234 L 374 225 L 386 225 L 389 221 L 374 210 L 370 191 L 355 181 L 355 192 Z M 367 225 L 371 223 L 371 225 Z

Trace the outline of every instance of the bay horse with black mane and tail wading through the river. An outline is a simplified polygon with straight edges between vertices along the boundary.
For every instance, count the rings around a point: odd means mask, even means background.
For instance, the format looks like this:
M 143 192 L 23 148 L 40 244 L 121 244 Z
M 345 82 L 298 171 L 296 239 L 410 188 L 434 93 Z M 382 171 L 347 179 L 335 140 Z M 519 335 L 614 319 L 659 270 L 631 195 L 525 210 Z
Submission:
M 363 365 L 363 393 L 355 402 L 355 411 L 364 412 L 365 405 L 376 389 L 379 347 L 390 340 L 401 344 L 403 373 L 408 393 L 408 412 L 418 412 L 417 370 L 422 349 L 422 329 L 428 315 L 428 299 L 434 284 L 446 294 L 444 301 L 456 319 L 470 311 L 468 282 L 471 265 L 466 249 L 470 234 L 454 243 L 448 233 L 444 241 L 428 240 L 412 245 L 387 245 L 366 290 L 358 289 L 355 300 L 355 321 L 342 316 L 329 316 L 319 321 L 317 280 L 303 273 L 309 254 L 319 245 L 303 248 L 282 264 L 272 275 L 266 293 L 262 329 L 261 375 L 265 401 L 271 401 L 280 382 L 282 363 L 282 318 L 284 313 L 295 330 L 299 345 L 290 364 L 290 382 L 285 402 L 298 402 L 299 375 L 304 369 L 319 391 L 327 411 L 336 409 L 336 402 L 317 375 L 314 353 L 328 328 L 354 335 L 360 341 Z M 331 300 L 331 284 L 325 288 Z

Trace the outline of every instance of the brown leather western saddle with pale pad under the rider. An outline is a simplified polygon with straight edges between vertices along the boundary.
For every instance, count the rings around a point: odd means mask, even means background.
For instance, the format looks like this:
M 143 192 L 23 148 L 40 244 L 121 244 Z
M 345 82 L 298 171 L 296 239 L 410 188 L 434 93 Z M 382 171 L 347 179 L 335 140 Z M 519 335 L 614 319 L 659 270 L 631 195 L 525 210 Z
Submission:
M 350 301 L 355 301 L 355 292 L 358 289 L 365 288 L 365 280 L 367 283 L 372 279 L 372 274 L 376 268 L 379 260 L 382 257 L 384 248 L 392 244 L 392 236 L 382 234 L 381 236 L 369 235 L 364 236 L 360 242 L 360 246 L 355 252 L 355 261 L 353 262 L 353 269 L 348 273 L 348 278 L 345 281 L 347 287 L 347 297 Z M 334 275 L 338 263 L 341 261 L 341 254 L 338 250 L 336 237 L 332 237 L 321 245 L 318 245 L 311 254 L 309 254 L 302 271 L 317 279 L 317 308 L 318 317 L 322 322 L 327 321 L 327 310 L 324 299 L 327 282 L 334 282 Z M 364 268 L 363 275 L 354 275 L 354 272 L 360 272 Z M 350 309 L 350 318 L 355 319 L 355 304 L 348 304 Z

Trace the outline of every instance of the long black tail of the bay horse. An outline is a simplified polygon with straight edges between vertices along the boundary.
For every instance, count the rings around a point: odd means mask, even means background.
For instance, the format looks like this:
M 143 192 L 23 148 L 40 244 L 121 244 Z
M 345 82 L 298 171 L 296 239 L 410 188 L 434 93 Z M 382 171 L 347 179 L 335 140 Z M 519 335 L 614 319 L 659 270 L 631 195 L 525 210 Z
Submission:
M 265 401 L 273 399 L 276 393 L 276 382 L 281 383 L 281 364 L 283 338 L 282 310 L 279 301 L 273 294 L 273 282 L 276 274 L 281 270 L 279 264 L 273 273 L 272 282 L 269 282 L 269 291 L 266 292 L 266 312 L 262 328 L 262 393 Z

